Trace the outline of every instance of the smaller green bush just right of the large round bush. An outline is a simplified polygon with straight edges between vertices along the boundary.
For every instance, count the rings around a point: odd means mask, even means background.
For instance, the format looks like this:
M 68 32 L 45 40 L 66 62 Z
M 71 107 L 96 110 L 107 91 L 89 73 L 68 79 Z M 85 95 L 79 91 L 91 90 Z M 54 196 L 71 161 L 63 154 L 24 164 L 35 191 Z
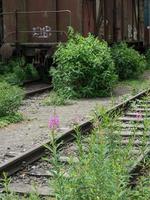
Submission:
M 120 80 L 137 78 L 146 68 L 145 57 L 126 43 L 114 45 L 112 56 Z

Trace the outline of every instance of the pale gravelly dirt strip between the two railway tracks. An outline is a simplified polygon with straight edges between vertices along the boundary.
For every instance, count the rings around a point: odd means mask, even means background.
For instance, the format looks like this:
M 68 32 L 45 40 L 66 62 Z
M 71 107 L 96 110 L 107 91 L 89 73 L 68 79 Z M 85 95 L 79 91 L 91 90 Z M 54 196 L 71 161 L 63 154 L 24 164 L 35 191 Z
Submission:
M 149 76 L 150 77 L 150 76 Z M 146 78 L 149 78 L 146 77 Z M 111 106 L 112 101 L 119 103 L 122 95 L 129 94 L 130 88 L 117 87 L 112 98 L 82 99 L 67 106 L 43 106 L 42 99 L 48 94 L 34 96 L 23 101 L 20 111 L 25 120 L 0 129 L 0 163 L 23 153 L 49 139 L 48 121 L 54 110 L 60 118 L 60 129 L 71 128 L 73 121 L 86 121 L 96 106 Z

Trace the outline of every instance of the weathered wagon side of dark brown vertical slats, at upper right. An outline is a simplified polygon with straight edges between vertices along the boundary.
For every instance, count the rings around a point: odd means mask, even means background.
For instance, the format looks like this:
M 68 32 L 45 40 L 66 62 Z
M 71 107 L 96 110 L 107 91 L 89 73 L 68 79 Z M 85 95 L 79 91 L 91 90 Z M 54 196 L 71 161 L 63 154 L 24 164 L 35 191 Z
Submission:
M 125 40 L 143 41 L 144 0 L 97 1 L 97 20 L 101 12 L 98 35 L 109 42 Z M 98 5 L 99 4 L 99 5 Z M 98 24 L 98 22 L 97 22 Z

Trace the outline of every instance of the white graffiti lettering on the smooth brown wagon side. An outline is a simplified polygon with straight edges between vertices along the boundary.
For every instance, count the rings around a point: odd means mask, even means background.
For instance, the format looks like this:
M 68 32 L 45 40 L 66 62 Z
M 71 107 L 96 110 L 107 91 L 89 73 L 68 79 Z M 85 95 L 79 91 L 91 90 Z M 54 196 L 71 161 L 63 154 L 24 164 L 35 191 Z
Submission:
M 36 26 L 32 28 L 32 36 L 38 39 L 47 39 L 52 36 L 52 28 L 50 26 Z

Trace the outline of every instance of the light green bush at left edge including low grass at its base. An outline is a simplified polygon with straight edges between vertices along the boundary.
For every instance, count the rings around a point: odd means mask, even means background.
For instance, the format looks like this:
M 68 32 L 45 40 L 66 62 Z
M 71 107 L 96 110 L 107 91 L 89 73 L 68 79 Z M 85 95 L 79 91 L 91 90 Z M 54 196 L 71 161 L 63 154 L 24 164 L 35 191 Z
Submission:
M 0 82 L 0 127 L 22 120 L 17 114 L 24 92 L 18 86 Z

